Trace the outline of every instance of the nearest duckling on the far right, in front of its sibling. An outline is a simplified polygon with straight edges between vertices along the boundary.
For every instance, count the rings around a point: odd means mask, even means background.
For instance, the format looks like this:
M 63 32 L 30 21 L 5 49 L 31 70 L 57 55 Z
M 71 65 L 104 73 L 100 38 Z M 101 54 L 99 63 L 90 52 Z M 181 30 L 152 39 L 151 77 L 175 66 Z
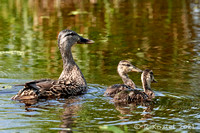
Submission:
M 157 82 L 154 79 L 153 71 L 150 69 L 145 69 L 141 75 L 142 86 L 144 91 L 132 89 L 132 90 L 123 90 L 117 93 L 113 101 L 115 103 L 131 103 L 131 102 L 143 102 L 151 101 L 155 98 L 153 90 L 151 90 L 151 83 Z

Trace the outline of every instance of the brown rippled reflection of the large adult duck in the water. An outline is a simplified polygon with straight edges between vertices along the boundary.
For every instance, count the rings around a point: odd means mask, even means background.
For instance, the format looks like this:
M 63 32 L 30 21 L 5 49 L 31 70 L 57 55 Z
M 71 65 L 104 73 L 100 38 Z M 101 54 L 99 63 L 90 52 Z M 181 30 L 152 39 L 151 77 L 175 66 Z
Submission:
M 76 123 L 76 118 L 79 116 L 78 112 L 82 110 L 82 105 L 80 104 L 80 97 L 71 96 L 67 99 L 58 99 L 58 103 L 50 101 L 48 104 L 42 105 L 25 105 L 25 110 L 27 112 L 38 112 L 41 115 L 52 113 L 51 115 L 59 115 L 58 121 L 60 121 L 60 126 L 51 125 L 51 128 L 59 129 L 59 133 L 73 133 L 74 123 Z M 45 112 L 40 112 L 40 110 L 46 110 Z M 62 111 L 62 112 L 61 112 Z M 57 118 L 55 118 L 57 120 Z M 55 120 L 54 119 L 54 120 Z M 51 118 L 49 120 L 52 120 Z M 47 123 L 46 123 L 47 124 Z M 46 126 L 42 124 L 42 126 Z

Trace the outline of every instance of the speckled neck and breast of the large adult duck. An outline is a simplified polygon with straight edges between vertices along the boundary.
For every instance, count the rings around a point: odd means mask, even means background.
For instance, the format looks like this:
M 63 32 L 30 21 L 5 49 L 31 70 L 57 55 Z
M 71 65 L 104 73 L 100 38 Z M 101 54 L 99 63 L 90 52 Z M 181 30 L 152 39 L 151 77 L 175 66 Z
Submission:
M 68 80 L 70 83 L 73 82 L 80 86 L 87 86 L 81 70 L 73 59 L 71 47 L 66 45 L 64 49 L 60 48 L 60 52 L 63 60 L 63 71 L 59 77 L 59 80 Z

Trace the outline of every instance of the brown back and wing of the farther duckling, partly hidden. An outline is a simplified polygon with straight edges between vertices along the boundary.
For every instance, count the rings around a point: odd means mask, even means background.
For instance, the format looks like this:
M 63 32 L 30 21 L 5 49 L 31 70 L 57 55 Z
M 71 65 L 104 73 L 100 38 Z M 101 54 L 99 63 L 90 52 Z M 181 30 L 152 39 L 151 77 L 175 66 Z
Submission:
M 114 97 L 117 93 L 119 93 L 123 90 L 128 90 L 128 89 L 130 89 L 130 87 L 127 85 L 114 84 L 106 89 L 104 96 Z

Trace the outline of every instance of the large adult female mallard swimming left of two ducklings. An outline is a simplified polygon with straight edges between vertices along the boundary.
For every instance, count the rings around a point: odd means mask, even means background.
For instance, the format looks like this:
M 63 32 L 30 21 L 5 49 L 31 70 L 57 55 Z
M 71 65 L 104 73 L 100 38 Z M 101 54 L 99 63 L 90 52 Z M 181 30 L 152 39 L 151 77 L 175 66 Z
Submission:
M 72 30 L 63 30 L 58 35 L 58 47 L 63 60 L 63 71 L 58 80 L 41 79 L 24 84 L 13 100 L 30 100 L 40 98 L 68 97 L 78 95 L 87 89 L 86 80 L 75 63 L 71 47 L 76 43 L 94 43 L 79 36 Z

